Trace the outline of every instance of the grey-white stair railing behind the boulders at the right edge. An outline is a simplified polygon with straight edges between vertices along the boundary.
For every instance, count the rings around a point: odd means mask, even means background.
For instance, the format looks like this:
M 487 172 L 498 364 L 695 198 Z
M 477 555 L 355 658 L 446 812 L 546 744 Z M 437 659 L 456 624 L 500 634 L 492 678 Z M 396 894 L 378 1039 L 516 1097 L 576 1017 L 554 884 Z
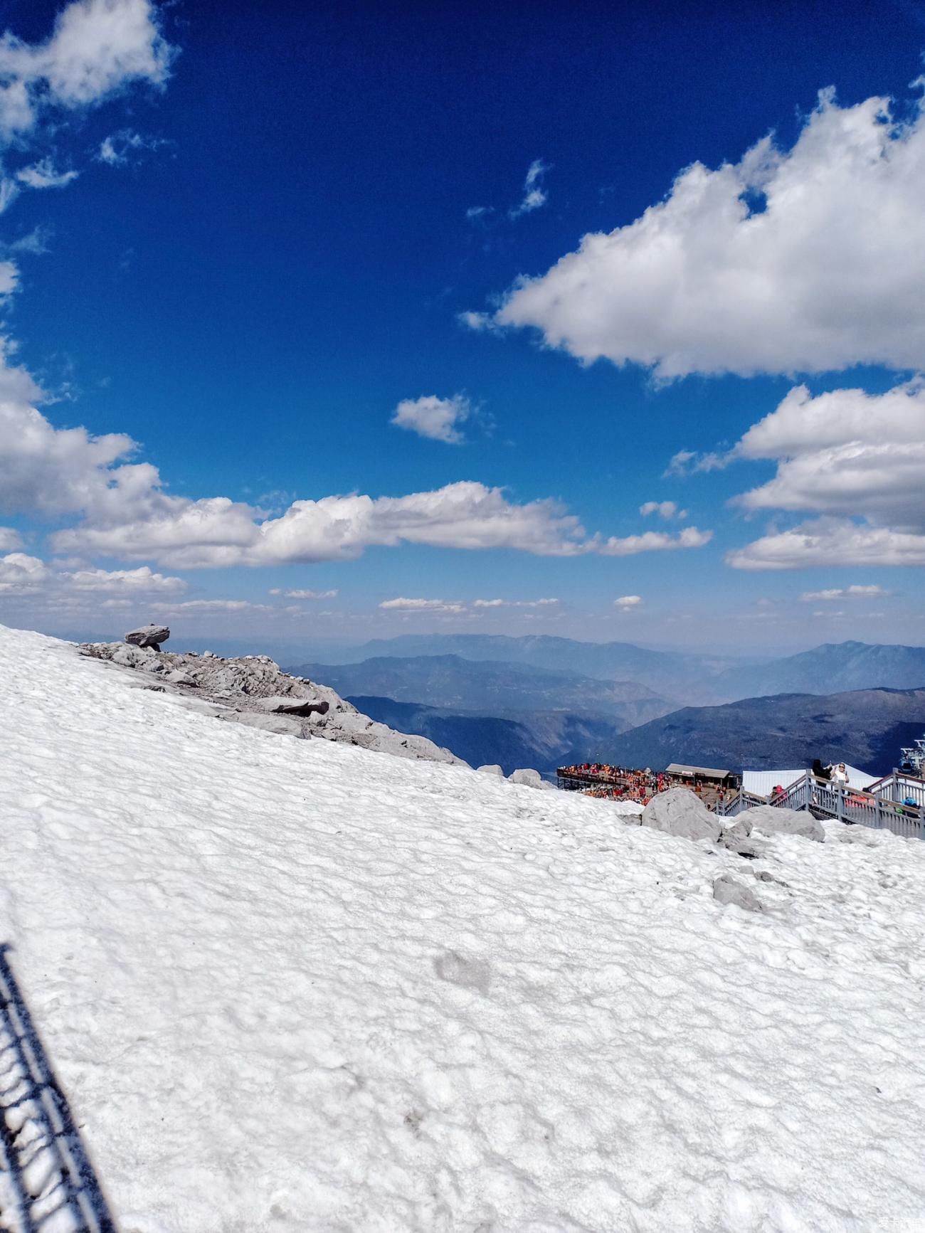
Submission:
M 717 813 L 723 817 L 734 817 L 756 805 L 805 809 L 818 817 L 893 831 L 906 838 L 925 838 L 925 780 L 897 771 L 872 784 L 868 792 L 842 788 L 807 771 L 773 798 L 742 790 L 719 801 Z

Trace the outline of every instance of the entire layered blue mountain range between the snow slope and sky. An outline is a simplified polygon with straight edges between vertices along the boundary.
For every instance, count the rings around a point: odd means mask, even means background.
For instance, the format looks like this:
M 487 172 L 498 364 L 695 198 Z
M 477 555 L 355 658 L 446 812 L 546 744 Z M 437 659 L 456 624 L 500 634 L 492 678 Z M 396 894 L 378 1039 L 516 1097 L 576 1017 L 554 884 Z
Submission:
M 585 758 L 770 769 L 820 757 L 881 772 L 925 730 L 920 646 L 826 644 L 751 665 L 548 636 L 408 635 L 364 650 L 377 653 L 289 671 L 506 771 Z

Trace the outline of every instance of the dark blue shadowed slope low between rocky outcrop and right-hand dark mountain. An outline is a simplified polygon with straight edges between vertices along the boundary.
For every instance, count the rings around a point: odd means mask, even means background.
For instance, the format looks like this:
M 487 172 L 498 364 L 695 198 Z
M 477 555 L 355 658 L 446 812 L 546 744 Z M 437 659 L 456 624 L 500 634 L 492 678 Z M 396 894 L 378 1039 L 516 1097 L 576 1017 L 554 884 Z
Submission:
M 363 694 L 347 700 L 380 724 L 427 736 L 474 767 L 497 763 L 504 774 L 533 767 L 551 776 L 557 766 L 583 760 L 587 750 L 607 746 L 618 735 L 604 719 L 566 711 L 534 711 L 518 721 L 496 715 L 453 714 Z

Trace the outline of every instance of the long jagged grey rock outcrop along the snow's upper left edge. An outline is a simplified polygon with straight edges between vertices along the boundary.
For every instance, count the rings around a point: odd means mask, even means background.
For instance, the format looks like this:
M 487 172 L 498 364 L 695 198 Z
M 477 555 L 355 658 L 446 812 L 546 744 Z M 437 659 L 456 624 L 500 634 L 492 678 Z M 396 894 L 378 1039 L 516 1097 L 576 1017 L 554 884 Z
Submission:
M 215 704 L 218 719 L 291 736 L 321 736 L 402 758 L 466 766 L 449 750 L 424 736 L 396 732 L 376 724 L 327 686 L 282 672 L 268 655 L 223 660 L 202 655 L 157 652 L 125 642 L 84 642 L 81 655 L 120 667 L 153 673 L 171 693 L 194 694 Z

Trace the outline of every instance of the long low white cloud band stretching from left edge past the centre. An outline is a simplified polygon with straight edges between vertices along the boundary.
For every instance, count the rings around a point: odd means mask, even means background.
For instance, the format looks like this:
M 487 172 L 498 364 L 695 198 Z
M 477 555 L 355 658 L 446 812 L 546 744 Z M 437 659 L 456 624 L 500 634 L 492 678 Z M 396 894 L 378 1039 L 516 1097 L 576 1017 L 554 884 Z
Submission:
M 75 525 L 49 538 L 63 555 L 173 568 L 352 560 L 368 547 L 401 544 L 612 556 L 699 547 L 712 534 L 691 526 L 677 536 L 588 536 L 554 499 L 517 503 L 503 488 L 476 481 L 398 497 L 292 501 L 274 517 L 229 497 L 178 497 L 165 491 L 157 467 L 132 461 L 138 446 L 131 436 L 56 428 L 33 406 L 42 391 L 30 375 L 1 353 L 0 361 L 0 512 L 75 515 Z

